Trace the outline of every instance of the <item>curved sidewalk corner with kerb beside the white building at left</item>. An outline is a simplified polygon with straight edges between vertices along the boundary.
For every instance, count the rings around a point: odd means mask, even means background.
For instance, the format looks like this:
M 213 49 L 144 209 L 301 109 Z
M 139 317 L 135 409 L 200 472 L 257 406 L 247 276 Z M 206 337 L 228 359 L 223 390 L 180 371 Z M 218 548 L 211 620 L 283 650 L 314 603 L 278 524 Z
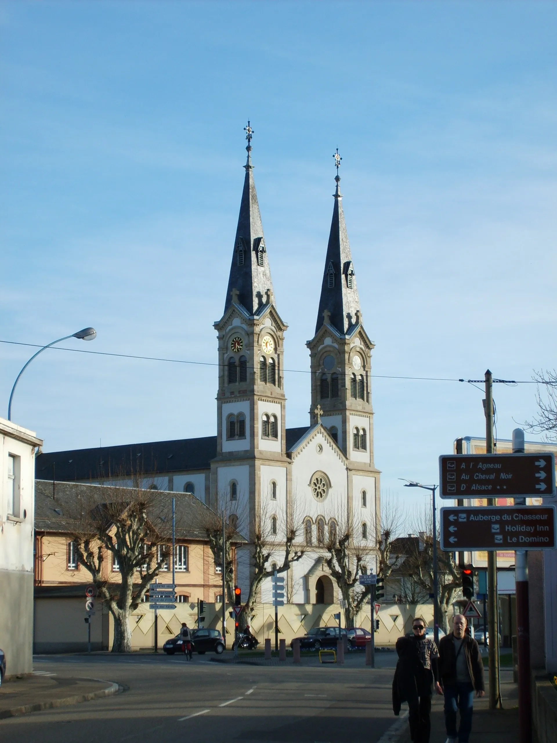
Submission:
M 4 681 L 0 687 L 0 719 L 66 707 L 117 694 L 118 684 L 99 678 L 74 678 L 35 672 L 28 678 Z

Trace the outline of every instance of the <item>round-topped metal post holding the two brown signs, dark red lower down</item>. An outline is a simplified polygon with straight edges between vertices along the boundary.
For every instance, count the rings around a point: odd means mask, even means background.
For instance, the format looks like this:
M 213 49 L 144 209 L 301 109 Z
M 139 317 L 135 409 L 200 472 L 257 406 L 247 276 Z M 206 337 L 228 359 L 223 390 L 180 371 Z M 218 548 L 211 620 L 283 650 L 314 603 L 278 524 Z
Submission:
M 512 432 L 512 453 L 524 454 L 524 431 Z M 515 505 L 526 505 L 515 498 Z M 532 743 L 532 692 L 530 690 L 530 606 L 528 602 L 528 553 L 515 551 L 516 638 L 518 650 L 518 741 Z

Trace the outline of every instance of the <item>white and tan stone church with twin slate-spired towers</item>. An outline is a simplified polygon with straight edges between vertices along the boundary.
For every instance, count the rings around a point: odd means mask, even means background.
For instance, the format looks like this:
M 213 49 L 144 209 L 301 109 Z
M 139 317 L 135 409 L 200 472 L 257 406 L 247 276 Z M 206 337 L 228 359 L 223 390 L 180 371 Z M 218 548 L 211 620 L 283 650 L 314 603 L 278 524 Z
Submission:
M 323 563 L 323 545 L 346 525 L 368 546 L 380 509 L 374 464 L 371 342 L 362 323 L 348 233 L 342 211 L 338 151 L 333 217 L 325 254 L 316 328 L 310 352 L 309 426 L 288 429 L 284 393 L 284 333 L 273 291 L 252 164 L 252 129 L 238 226 L 218 337 L 216 436 L 43 453 L 36 478 L 120 482 L 141 471 L 151 487 L 193 493 L 210 507 L 238 514 L 250 539 L 254 519 L 276 544 L 287 522 L 296 526 L 304 555 L 287 573 L 290 603 L 336 603 L 338 589 Z M 140 468 L 139 468 L 140 464 Z M 114 473 L 118 473 L 115 478 Z M 149 487 L 149 486 L 148 486 Z M 371 564 L 373 559 L 373 564 Z M 269 566 L 271 567 L 271 565 Z M 236 580 L 247 595 L 249 548 L 237 554 Z M 270 601 L 270 580 L 261 600 Z

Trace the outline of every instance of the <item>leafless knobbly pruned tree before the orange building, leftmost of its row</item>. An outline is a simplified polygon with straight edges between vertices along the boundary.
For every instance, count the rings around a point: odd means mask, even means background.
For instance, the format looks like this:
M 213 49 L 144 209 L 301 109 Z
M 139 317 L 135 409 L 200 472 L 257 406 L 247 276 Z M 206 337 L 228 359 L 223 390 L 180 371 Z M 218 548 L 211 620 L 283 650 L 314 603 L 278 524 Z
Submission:
M 139 483 L 136 487 L 101 485 L 68 505 L 74 511 L 77 562 L 91 574 L 97 597 L 114 618 L 112 652 L 131 652 L 131 612 L 169 562 L 172 505 L 161 496 Z M 114 582 L 116 576 L 119 583 Z

